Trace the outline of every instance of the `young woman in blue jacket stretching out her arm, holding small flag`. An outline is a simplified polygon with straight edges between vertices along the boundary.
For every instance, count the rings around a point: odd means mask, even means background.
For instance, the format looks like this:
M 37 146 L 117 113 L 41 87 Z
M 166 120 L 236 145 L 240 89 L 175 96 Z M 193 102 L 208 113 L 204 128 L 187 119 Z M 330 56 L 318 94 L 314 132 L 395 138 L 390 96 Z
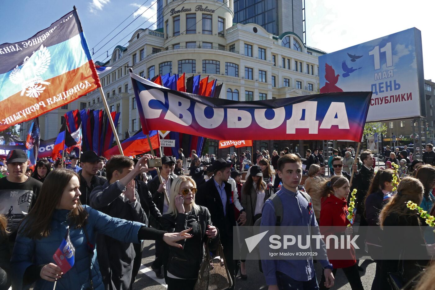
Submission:
M 147 155 L 139 162 L 146 171 Z M 79 176 L 68 169 L 54 170 L 47 175 L 37 202 L 21 223 L 11 259 L 13 289 L 28 289 L 36 281 L 37 289 L 50 289 L 57 280 L 56 290 L 104 290 L 97 252 L 93 245 L 97 233 L 124 243 L 140 243 L 141 239 L 163 239 L 170 246 L 190 238 L 187 229 L 166 233 L 147 228 L 144 224 L 112 218 L 80 204 Z M 70 229 L 75 247 L 74 266 L 62 273 L 54 263 L 53 254 Z M 62 258 L 62 256 L 60 257 Z

